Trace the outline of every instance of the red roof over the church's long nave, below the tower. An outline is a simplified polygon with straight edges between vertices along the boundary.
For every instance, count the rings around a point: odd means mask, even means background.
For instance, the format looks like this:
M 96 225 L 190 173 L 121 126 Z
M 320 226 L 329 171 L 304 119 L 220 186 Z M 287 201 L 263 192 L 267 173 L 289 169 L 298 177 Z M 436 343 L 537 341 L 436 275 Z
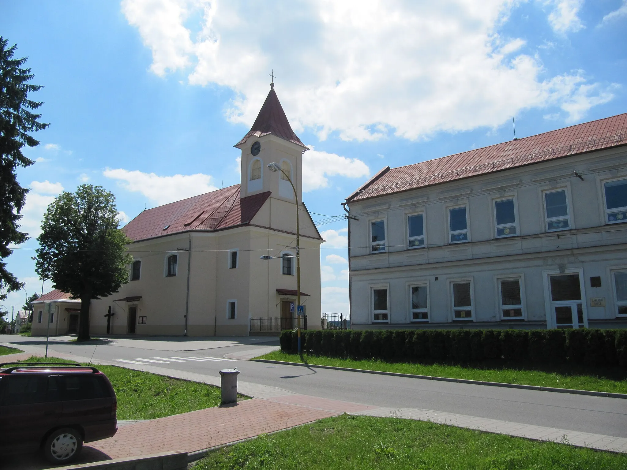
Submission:
M 240 199 L 240 185 L 235 184 L 147 209 L 123 230 L 133 241 L 140 241 L 190 230 L 213 231 L 248 224 L 269 196 L 270 192 L 262 192 Z

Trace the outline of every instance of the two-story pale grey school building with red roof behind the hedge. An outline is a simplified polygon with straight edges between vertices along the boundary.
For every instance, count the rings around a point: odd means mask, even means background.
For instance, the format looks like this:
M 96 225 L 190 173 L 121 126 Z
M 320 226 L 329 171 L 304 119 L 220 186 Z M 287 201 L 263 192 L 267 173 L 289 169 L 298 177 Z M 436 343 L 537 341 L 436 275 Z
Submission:
M 345 203 L 352 326 L 624 328 L 626 144 L 627 113 L 382 169 Z

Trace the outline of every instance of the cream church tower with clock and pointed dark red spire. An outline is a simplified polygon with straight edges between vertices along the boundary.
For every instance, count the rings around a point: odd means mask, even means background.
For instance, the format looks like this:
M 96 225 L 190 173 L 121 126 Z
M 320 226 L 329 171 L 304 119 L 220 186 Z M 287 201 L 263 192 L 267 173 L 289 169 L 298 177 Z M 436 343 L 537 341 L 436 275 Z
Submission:
M 275 162 L 290 175 L 302 202 L 302 153 L 308 148 L 294 133 L 278 100 L 274 83 L 253 127 L 234 147 L 241 150 L 240 197 L 270 191 L 271 197 L 294 201 L 292 185 L 282 172 L 272 172 Z

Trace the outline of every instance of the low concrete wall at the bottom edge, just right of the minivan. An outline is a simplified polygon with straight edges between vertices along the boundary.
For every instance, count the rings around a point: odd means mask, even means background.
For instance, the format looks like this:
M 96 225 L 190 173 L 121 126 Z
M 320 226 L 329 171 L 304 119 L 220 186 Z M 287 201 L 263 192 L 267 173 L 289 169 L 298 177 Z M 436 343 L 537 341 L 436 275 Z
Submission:
M 55 470 L 187 470 L 187 452 L 162 452 L 150 456 L 125 457 L 90 464 L 56 467 Z

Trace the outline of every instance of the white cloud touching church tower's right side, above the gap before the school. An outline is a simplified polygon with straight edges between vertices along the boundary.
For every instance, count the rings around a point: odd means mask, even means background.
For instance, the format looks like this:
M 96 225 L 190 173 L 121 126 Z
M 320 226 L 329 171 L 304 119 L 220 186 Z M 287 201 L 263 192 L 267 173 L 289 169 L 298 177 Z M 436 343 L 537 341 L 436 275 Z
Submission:
M 321 152 L 315 150 L 313 145 L 308 147 L 310 150 L 303 154 L 303 192 L 329 187 L 325 175 L 360 178 L 370 174 L 368 166 L 359 159 Z

